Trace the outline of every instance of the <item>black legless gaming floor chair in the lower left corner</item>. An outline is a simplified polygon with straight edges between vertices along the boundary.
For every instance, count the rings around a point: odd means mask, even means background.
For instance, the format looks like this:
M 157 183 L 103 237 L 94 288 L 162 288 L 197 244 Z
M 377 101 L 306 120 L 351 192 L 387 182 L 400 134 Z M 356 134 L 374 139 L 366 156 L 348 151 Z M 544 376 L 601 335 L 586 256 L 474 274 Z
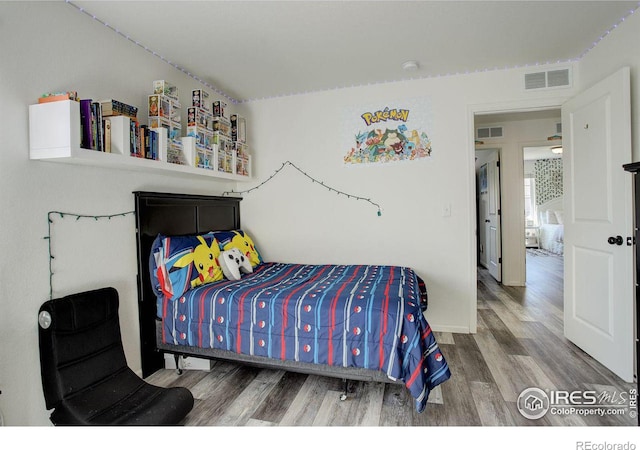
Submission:
M 54 425 L 179 425 L 193 408 L 188 389 L 154 386 L 128 367 L 118 306 L 108 287 L 40 307 L 42 388 Z

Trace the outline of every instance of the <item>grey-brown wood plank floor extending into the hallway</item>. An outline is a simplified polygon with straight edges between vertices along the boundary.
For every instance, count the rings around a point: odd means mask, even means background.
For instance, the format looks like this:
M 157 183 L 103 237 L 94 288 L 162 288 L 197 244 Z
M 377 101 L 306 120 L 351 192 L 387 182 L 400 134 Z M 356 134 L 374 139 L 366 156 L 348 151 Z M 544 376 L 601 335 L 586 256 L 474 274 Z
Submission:
M 452 377 L 418 414 L 405 387 L 350 382 L 216 362 L 210 372 L 161 370 L 147 381 L 185 386 L 195 406 L 187 426 L 628 426 L 624 416 L 547 414 L 524 418 L 516 400 L 528 387 L 628 391 L 563 336 L 562 258 L 528 252 L 527 287 L 505 287 L 478 271 L 478 332 L 437 333 Z M 428 315 L 427 315 L 428 318 Z

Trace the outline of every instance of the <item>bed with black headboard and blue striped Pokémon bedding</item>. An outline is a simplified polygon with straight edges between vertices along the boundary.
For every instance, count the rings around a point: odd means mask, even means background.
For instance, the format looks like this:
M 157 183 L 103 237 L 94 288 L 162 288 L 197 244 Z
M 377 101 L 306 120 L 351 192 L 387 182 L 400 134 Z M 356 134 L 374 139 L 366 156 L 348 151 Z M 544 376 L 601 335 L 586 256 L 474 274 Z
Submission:
M 240 198 L 134 195 L 143 377 L 164 353 L 224 359 L 402 383 L 423 412 L 451 376 L 411 268 L 264 261 L 241 227 Z M 239 279 L 205 262 L 229 247 L 251 261 Z

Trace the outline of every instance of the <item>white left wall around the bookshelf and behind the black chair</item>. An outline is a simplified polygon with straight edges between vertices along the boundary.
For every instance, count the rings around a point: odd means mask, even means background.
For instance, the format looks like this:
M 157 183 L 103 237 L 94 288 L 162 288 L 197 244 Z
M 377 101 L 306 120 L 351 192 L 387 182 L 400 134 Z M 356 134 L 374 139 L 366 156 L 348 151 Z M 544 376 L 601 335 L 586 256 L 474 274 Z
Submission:
M 37 342 L 49 299 L 47 212 L 120 213 L 134 209 L 135 190 L 220 195 L 235 184 L 30 161 L 28 105 L 44 92 L 113 97 L 138 106 L 146 123 L 153 80 L 183 93 L 202 86 L 64 2 L 1 2 L 0 42 L 0 410 L 7 425 L 48 425 Z M 116 287 L 127 360 L 139 371 L 133 216 L 56 217 L 53 233 L 54 296 Z

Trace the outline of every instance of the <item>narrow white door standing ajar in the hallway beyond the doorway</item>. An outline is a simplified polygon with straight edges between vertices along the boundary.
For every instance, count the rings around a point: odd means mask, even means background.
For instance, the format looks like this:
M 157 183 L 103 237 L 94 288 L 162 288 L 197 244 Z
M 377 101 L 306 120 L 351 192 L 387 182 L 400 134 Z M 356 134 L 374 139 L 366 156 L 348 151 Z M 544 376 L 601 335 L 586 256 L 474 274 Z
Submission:
M 494 152 L 487 161 L 488 207 L 485 223 L 489 273 L 502 281 L 502 234 L 500 227 L 500 160 Z

